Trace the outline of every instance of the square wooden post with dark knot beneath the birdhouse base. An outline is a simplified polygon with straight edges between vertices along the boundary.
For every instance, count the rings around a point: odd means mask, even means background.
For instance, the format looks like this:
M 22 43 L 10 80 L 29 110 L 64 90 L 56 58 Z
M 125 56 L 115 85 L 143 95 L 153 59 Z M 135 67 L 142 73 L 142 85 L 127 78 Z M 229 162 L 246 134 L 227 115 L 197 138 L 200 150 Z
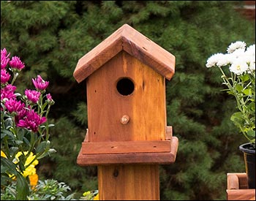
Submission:
M 98 166 L 99 200 L 159 200 L 158 165 Z

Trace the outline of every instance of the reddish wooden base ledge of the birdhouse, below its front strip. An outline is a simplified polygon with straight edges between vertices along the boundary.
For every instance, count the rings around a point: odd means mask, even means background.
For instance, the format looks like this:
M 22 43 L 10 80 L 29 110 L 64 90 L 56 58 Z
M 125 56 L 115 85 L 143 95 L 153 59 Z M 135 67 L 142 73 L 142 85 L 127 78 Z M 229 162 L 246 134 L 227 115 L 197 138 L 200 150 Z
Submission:
M 158 153 L 83 154 L 81 149 L 78 154 L 77 163 L 80 166 L 102 164 L 170 164 L 176 160 L 178 138 L 172 137 L 170 143 L 170 152 Z

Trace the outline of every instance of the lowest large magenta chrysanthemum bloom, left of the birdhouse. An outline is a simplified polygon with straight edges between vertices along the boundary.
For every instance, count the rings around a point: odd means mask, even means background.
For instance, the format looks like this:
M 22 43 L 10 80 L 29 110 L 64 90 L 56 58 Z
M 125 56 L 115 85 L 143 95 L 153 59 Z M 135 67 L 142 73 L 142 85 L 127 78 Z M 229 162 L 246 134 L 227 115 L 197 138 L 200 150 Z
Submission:
M 37 132 L 39 125 L 45 123 L 47 118 L 41 117 L 34 110 L 30 110 L 23 119 L 18 121 L 17 126 L 20 128 L 26 128 L 32 132 Z

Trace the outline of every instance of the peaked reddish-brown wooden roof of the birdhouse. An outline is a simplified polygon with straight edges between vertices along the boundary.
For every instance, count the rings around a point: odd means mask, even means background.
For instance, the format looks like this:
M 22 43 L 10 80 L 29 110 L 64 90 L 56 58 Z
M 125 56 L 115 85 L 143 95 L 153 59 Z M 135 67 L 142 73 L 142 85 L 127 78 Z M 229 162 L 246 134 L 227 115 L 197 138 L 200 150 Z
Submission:
M 74 77 L 78 83 L 89 77 L 121 50 L 153 68 L 170 80 L 175 72 L 175 56 L 161 48 L 155 42 L 140 34 L 131 26 L 124 24 L 107 39 L 79 59 Z

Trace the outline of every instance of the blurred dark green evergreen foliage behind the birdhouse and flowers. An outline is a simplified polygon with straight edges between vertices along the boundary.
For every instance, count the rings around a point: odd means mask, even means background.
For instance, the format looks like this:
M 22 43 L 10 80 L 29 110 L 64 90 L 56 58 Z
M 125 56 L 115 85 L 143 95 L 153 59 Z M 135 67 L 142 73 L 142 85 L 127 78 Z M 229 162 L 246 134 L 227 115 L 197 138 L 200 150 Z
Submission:
M 246 139 L 230 121 L 236 102 L 221 91 L 219 69 L 205 65 L 231 42 L 255 44 L 255 1 L 1 1 L 1 49 L 26 65 L 17 91 L 41 75 L 56 102 L 50 141 L 57 153 L 40 160 L 39 179 L 63 181 L 78 197 L 97 189 L 97 167 L 76 164 L 87 128 L 86 81 L 72 74 L 124 23 L 176 56 L 166 104 L 179 146 L 176 162 L 160 166 L 161 200 L 225 200 L 227 172 L 245 172 L 238 146 Z

